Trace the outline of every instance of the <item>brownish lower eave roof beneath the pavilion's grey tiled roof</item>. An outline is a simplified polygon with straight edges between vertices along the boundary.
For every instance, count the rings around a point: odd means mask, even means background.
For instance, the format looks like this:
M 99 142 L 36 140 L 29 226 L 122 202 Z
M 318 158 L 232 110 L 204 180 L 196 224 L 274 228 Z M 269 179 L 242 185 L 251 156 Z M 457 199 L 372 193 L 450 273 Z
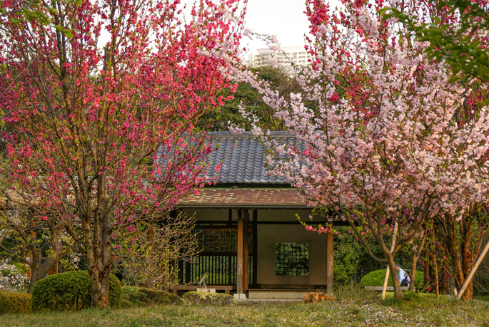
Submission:
M 296 189 L 228 189 L 206 188 L 200 194 L 191 194 L 178 202 L 178 207 L 280 207 L 307 208 Z

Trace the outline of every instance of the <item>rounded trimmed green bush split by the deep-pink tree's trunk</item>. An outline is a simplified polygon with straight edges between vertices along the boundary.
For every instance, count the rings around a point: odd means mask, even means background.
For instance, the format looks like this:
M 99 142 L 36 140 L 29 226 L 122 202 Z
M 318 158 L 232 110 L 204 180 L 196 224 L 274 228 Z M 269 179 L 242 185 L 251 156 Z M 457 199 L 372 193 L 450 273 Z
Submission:
M 112 308 L 119 306 L 121 282 L 109 276 L 109 299 Z M 32 311 L 69 311 L 91 308 L 89 271 L 68 271 L 44 277 L 32 291 Z

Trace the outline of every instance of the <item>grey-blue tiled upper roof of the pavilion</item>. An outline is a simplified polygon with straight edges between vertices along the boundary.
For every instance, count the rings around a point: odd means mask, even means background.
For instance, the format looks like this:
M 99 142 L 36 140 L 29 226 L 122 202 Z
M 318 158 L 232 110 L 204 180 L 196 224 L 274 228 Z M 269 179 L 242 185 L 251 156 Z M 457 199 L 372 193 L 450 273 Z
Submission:
M 270 175 L 265 167 L 263 145 L 251 132 L 232 134 L 229 132 L 208 133 L 207 145 L 212 142 L 218 149 L 206 157 L 206 178 L 218 184 L 290 184 L 283 177 Z M 271 137 L 280 143 L 295 143 L 296 137 L 285 132 L 273 132 Z M 216 172 L 216 165 L 221 165 Z

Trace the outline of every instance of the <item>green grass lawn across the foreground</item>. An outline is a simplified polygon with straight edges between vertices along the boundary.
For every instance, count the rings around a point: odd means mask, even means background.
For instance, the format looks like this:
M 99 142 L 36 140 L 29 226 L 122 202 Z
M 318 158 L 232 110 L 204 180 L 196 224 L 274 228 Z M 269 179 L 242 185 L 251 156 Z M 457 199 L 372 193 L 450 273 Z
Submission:
M 151 306 L 0 316 L 0 326 L 489 326 L 489 303 L 337 300 L 270 306 Z

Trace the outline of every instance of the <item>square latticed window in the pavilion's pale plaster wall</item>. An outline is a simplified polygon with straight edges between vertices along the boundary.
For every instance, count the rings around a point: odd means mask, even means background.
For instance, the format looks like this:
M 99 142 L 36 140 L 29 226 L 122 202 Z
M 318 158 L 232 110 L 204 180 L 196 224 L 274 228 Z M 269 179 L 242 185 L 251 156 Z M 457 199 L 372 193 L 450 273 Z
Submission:
M 277 276 L 309 276 L 309 243 L 276 243 Z

